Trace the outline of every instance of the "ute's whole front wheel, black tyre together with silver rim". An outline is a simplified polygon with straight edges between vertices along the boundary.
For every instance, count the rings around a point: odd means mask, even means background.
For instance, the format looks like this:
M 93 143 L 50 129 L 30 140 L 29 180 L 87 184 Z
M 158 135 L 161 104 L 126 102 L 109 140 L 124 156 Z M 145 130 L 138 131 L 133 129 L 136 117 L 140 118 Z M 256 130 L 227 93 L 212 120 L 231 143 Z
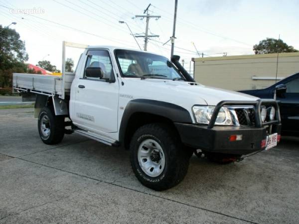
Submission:
M 152 123 L 140 127 L 133 135 L 130 150 L 136 177 L 153 190 L 174 187 L 187 173 L 189 155 L 165 124 Z

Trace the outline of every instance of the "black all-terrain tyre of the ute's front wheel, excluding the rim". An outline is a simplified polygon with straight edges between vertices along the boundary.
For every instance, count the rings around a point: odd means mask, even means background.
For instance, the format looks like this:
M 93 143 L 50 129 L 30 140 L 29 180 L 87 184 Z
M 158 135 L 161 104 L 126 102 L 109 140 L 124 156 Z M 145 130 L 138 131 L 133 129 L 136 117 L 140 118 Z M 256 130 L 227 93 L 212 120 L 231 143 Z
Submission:
M 147 139 L 157 142 L 164 153 L 165 165 L 159 176 L 147 175 L 138 159 L 138 150 Z M 174 187 L 185 177 L 189 166 L 189 154 L 184 150 L 177 134 L 166 124 L 151 123 L 141 126 L 130 143 L 130 160 L 138 180 L 148 188 L 162 191 Z

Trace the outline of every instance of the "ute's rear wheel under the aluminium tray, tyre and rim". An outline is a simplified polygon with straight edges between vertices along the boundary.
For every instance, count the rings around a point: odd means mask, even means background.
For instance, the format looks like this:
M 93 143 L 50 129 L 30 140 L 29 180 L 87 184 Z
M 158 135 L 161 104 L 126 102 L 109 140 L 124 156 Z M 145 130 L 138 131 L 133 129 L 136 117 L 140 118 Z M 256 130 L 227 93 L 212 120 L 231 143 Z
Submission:
M 57 144 L 64 136 L 64 116 L 56 116 L 49 108 L 42 108 L 38 116 L 38 132 L 45 144 Z

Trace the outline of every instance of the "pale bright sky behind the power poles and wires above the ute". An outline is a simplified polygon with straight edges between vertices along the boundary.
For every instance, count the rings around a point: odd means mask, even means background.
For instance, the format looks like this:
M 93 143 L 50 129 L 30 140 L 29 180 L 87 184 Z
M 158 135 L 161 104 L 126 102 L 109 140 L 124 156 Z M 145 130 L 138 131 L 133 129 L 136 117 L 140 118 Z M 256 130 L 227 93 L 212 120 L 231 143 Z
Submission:
M 149 40 L 148 51 L 169 58 L 170 43 L 162 43 L 172 35 L 174 0 L 0 0 L 0 24 L 17 23 L 10 28 L 25 41 L 28 63 L 49 60 L 60 69 L 63 40 L 139 49 L 119 20 L 133 33 L 144 33 L 145 19 L 134 17 L 149 3 L 149 13 L 161 18 L 149 20 L 149 34 L 159 37 Z M 174 54 L 188 68 L 191 58 L 199 57 L 195 47 L 204 57 L 246 55 L 260 40 L 279 35 L 299 49 L 298 8 L 299 0 L 178 0 Z M 144 39 L 138 42 L 143 48 Z M 66 57 L 76 63 L 81 53 L 68 48 Z

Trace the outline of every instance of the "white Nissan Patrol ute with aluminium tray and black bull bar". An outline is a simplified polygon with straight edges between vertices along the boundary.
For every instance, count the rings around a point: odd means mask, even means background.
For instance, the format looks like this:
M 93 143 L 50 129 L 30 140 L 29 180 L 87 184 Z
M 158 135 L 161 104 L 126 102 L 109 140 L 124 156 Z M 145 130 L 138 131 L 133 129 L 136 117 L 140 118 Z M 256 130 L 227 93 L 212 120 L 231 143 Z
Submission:
M 184 178 L 193 152 L 230 163 L 280 140 L 276 101 L 200 85 L 179 56 L 63 42 L 63 62 L 66 46 L 85 48 L 75 73 L 13 74 L 14 91 L 36 95 L 45 144 L 76 132 L 122 146 L 139 181 L 160 191 Z

